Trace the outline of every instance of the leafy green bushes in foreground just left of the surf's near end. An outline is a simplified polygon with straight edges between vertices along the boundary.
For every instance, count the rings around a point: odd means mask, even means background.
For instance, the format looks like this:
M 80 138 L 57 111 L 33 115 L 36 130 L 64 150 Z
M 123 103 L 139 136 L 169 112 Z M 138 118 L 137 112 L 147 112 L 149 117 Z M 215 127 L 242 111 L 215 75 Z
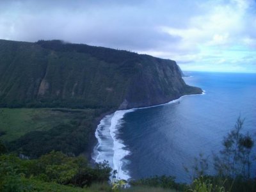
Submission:
M 36 167 L 47 176 L 46 181 L 80 187 L 90 186 L 92 182 L 108 181 L 111 172 L 106 162 L 91 168 L 84 157 L 68 157 L 61 152 L 51 152 L 40 157 Z

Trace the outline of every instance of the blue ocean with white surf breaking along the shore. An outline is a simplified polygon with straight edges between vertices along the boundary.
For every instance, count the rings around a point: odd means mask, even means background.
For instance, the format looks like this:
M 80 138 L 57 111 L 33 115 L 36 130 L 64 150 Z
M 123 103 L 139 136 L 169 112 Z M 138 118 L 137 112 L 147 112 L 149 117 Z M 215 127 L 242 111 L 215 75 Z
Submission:
M 105 116 L 95 132 L 99 143 L 92 158 L 108 161 L 119 179 L 172 175 L 177 182 L 189 182 L 199 154 L 208 159 L 208 173 L 214 174 L 212 154 L 221 150 L 223 137 L 239 116 L 245 118 L 244 134 L 256 139 L 256 74 L 185 74 L 186 83 L 204 94 Z M 255 163 L 252 170 L 255 175 Z

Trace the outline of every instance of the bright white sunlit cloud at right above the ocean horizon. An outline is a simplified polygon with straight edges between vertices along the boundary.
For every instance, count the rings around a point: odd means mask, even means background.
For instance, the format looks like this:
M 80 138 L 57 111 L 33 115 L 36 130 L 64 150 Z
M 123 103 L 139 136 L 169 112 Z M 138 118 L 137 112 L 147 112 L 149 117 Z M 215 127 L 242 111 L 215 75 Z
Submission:
M 211 7 L 211 9 L 209 12 L 191 17 L 188 28 L 162 27 L 166 33 L 180 36 L 182 39 L 180 47 L 184 49 L 195 47 L 194 49 L 197 50 L 194 54 L 186 56 L 176 55 L 175 60 L 178 63 L 179 61 L 189 63 L 190 59 L 195 58 L 196 62 L 194 60 L 191 63 L 201 63 L 204 66 L 196 66 L 198 70 L 202 68 L 205 70 L 206 66 L 208 70 L 216 70 L 218 67 L 218 70 L 243 69 L 244 72 L 244 56 L 256 53 L 256 38 L 255 33 L 252 33 L 255 31 L 256 21 L 255 12 L 252 12 L 252 7 L 255 8 L 255 1 L 227 1 L 221 4 L 208 1 L 201 6 L 205 9 Z M 211 56 L 219 59 L 214 60 Z M 241 67 L 235 67 L 232 63 L 237 63 Z M 250 60 L 250 67 L 247 70 L 256 72 L 253 63 L 256 63 L 255 58 Z M 182 66 L 187 70 L 195 69 L 195 65 Z

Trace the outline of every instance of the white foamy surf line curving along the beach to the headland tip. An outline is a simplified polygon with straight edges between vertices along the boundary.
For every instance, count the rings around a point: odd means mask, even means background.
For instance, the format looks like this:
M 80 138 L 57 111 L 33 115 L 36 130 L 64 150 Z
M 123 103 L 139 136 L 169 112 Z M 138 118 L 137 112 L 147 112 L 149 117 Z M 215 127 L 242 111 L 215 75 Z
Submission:
M 205 91 L 203 90 L 202 94 L 193 94 L 195 95 L 204 95 Z M 182 97 L 186 97 L 190 95 L 183 95 Z M 157 106 L 163 106 L 167 104 L 172 104 L 174 102 L 180 102 L 182 97 L 179 99 L 172 100 L 165 104 L 159 104 L 156 106 L 149 106 L 145 108 L 133 108 L 133 109 L 124 109 L 115 111 L 111 115 L 106 115 L 102 120 L 100 120 L 100 124 L 97 126 L 95 131 L 95 137 L 98 140 L 97 145 L 93 148 L 92 159 L 96 163 L 102 163 L 103 161 L 108 161 L 109 166 L 113 170 L 117 171 L 116 179 L 131 179 L 131 175 L 129 174 L 129 170 L 125 170 L 125 165 L 129 164 L 129 161 L 125 159 L 125 156 L 131 154 L 127 146 L 125 146 L 124 141 L 118 138 L 120 134 L 120 129 L 122 128 L 122 124 L 124 121 L 124 115 L 127 113 L 131 113 L 135 110 L 146 109 L 146 108 L 155 108 Z

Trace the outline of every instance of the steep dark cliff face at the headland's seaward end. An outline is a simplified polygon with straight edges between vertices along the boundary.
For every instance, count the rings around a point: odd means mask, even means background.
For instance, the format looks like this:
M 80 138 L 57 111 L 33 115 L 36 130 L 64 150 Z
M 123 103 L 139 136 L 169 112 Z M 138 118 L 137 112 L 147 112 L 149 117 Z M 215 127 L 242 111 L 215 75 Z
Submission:
M 175 61 L 144 56 L 145 65 L 138 65 L 120 109 L 163 104 L 182 95 L 202 93 L 188 86 L 181 77 Z

